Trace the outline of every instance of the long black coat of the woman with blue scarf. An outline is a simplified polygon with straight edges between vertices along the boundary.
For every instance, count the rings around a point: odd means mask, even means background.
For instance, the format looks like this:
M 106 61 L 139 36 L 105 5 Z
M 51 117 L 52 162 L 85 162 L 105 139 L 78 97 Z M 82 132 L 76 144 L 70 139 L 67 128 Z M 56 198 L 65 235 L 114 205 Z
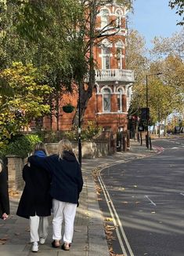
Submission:
M 51 182 L 49 173 L 33 164 L 31 167 L 25 165 L 23 180 L 25 187 L 16 214 L 23 218 L 29 218 L 35 214 L 38 216 L 51 215 L 52 199 L 49 194 Z

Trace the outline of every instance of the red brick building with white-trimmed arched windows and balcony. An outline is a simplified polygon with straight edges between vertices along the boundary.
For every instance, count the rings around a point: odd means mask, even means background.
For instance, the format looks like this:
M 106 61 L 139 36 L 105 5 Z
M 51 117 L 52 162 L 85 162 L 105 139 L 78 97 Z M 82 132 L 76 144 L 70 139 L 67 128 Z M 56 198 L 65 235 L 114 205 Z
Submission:
M 114 20 L 116 35 L 106 37 L 94 47 L 96 69 L 96 86 L 92 97 L 88 101 L 85 111 L 84 123 L 94 121 L 104 130 L 127 130 L 127 114 L 131 99 L 134 72 L 126 70 L 126 9 L 121 5 L 106 5 L 101 7 L 97 16 L 96 29 L 102 29 Z M 67 96 L 61 100 L 61 104 L 72 102 L 77 106 L 78 95 Z M 70 130 L 74 112 L 68 114 L 60 112 L 59 130 Z M 45 129 L 57 130 L 56 120 L 45 118 Z

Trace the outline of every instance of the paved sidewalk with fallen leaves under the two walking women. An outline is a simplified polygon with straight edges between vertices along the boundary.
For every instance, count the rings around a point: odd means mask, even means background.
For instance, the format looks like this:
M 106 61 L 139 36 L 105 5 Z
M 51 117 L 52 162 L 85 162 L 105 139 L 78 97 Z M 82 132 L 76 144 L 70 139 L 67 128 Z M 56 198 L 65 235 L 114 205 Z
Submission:
M 157 148 L 158 150 L 158 148 Z M 153 155 L 145 145 L 131 141 L 129 152 L 117 152 L 100 159 L 82 159 L 84 187 L 74 225 L 74 240 L 70 251 L 51 247 L 52 217 L 50 218 L 49 236 L 44 245 L 39 245 L 39 256 L 108 256 L 109 251 L 103 229 L 103 215 L 99 210 L 92 170 L 121 163 L 135 158 Z M 19 197 L 10 198 L 11 216 L 7 221 L 0 220 L 0 256 L 31 256 L 29 221 L 16 216 Z

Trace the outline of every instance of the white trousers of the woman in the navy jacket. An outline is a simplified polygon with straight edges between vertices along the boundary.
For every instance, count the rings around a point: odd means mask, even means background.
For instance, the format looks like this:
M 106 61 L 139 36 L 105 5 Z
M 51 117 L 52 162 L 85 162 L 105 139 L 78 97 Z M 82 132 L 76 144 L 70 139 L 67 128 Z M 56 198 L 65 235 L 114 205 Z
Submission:
M 62 222 L 64 220 L 63 242 L 71 243 L 74 235 L 74 218 L 77 204 L 52 199 L 54 218 L 52 219 L 53 240 L 61 240 Z

